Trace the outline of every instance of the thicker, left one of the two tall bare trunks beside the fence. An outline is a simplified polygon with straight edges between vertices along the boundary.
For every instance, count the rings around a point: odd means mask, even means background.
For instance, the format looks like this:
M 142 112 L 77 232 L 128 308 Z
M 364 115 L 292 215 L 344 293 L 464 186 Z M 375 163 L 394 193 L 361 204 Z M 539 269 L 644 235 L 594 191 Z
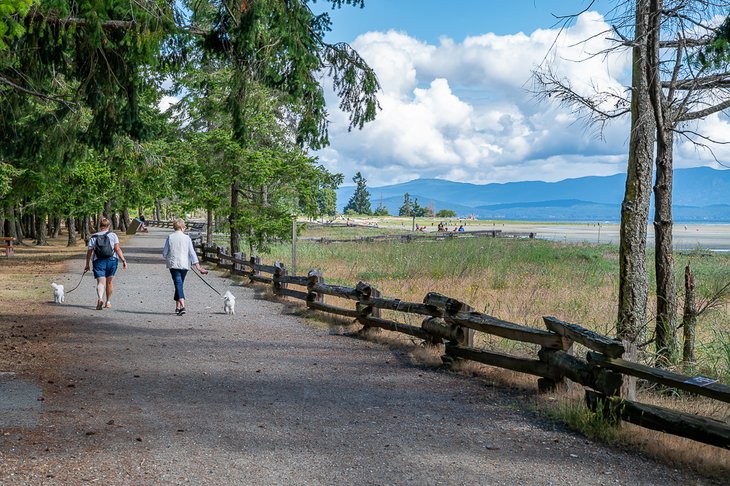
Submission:
M 646 233 L 651 199 L 655 123 L 648 95 L 646 45 L 647 0 L 636 0 L 633 48 L 631 135 L 626 192 L 621 204 L 619 246 L 618 337 L 636 342 L 646 323 L 649 280 L 646 271 Z

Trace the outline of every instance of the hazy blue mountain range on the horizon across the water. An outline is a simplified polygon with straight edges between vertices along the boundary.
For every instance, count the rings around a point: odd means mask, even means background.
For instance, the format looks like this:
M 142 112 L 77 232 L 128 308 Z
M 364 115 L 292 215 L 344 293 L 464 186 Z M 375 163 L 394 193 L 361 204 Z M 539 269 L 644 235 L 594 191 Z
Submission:
M 625 174 L 579 177 L 558 182 L 468 184 L 441 179 L 416 179 L 370 187 L 374 210 L 383 203 L 397 215 L 407 192 L 411 200 L 435 211 L 451 209 L 459 216 L 524 221 L 619 221 Z M 337 207 L 347 204 L 354 186 L 337 190 Z M 674 219 L 678 222 L 730 222 L 730 170 L 709 167 L 674 171 Z

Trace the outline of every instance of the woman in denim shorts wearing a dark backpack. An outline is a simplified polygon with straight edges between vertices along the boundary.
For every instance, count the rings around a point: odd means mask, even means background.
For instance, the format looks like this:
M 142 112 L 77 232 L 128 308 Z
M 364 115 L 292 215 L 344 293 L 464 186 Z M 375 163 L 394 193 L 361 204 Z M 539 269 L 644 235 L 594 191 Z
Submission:
M 112 279 L 117 273 L 119 260 L 122 261 L 122 268 L 127 268 L 127 260 L 119 247 L 119 237 L 110 231 L 109 226 L 109 220 L 101 218 L 100 231 L 91 236 L 86 251 L 84 272 L 89 271 L 93 258 L 94 277 L 96 278 L 96 310 L 112 306 Z M 105 291 L 106 299 L 104 299 Z

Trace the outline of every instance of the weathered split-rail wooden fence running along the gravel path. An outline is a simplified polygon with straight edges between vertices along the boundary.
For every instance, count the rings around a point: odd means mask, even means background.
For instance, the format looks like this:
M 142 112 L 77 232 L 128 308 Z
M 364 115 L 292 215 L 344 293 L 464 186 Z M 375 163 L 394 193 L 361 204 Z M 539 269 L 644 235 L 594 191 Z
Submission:
M 641 404 L 621 396 L 625 375 L 724 403 L 730 403 L 730 386 L 705 377 L 685 376 L 626 361 L 622 359 L 625 349 L 620 341 L 576 324 L 544 317 L 546 329 L 536 329 L 477 312 L 464 302 L 434 292 L 427 294 L 422 303 L 406 302 L 385 298 L 365 282 L 359 282 L 355 287 L 328 285 L 317 270 L 311 270 L 307 276 L 288 275 L 280 262 L 264 265 L 258 257 L 246 259 L 242 253 L 229 255 L 225 248 L 215 245 L 199 244 L 196 251 L 201 261 L 229 269 L 232 274 L 248 277 L 252 282 L 269 284 L 276 295 L 304 301 L 312 310 L 354 318 L 363 325 L 363 331 L 387 329 L 423 339 L 431 345 L 443 345 L 442 358 L 449 365 L 459 366 L 464 360 L 470 360 L 534 375 L 539 377 L 541 391 L 560 389 L 569 380 L 586 388 L 586 402 L 592 409 L 609 413 L 617 422 L 624 420 L 730 448 L 730 426 L 726 422 Z M 354 301 L 355 308 L 328 304 L 326 296 Z M 424 319 L 420 327 L 414 326 L 385 319 L 381 310 L 415 314 Z M 475 348 L 474 332 L 539 346 L 537 357 L 525 358 Z M 573 354 L 574 343 L 589 349 L 585 358 Z

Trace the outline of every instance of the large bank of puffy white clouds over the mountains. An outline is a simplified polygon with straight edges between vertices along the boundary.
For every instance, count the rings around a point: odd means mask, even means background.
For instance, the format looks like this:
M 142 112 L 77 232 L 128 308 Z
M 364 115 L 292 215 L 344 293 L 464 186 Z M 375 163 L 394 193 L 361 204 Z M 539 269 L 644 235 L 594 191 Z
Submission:
M 370 186 L 415 178 L 556 181 L 625 171 L 628 116 L 599 131 L 575 110 L 538 101 L 532 92 L 533 70 L 549 63 L 577 92 L 626 97 L 630 52 L 602 54 L 613 46 L 609 31 L 601 15 L 586 12 L 562 31 L 485 33 L 460 43 L 441 38 L 431 45 L 396 31 L 361 35 L 353 46 L 378 76 L 382 111 L 363 130 L 348 132 L 346 115 L 329 95 L 331 146 L 316 155 L 348 182 L 362 172 Z M 615 100 L 604 103 L 611 108 Z M 727 118 L 702 123 L 730 133 Z M 677 157 L 678 167 L 711 163 L 694 147 L 680 146 Z

